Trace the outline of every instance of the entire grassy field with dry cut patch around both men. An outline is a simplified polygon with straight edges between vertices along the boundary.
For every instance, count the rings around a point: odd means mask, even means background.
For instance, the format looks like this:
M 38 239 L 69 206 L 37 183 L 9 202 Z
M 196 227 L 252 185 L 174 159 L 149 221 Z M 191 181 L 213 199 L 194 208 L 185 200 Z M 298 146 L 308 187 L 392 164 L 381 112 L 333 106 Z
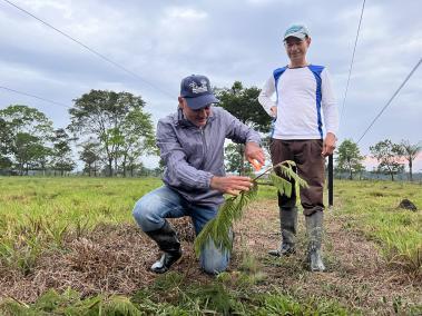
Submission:
M 181 263 L 164 276 L 148 271 L 156 247 L 131 208 L 159 179 L 0 178 L 0 315 L 422 313 L 418 184 L 336 180 L 325 274 L 306 271 L 302 253 L 266 256 L 279 224 L 275 189 L 262 186 L 235 227 L 230 269 L 216 278 L 197 268 L 188 221 L 174 223 L 184 230 Z M 419 210 L 399 209 L 403 198 Z

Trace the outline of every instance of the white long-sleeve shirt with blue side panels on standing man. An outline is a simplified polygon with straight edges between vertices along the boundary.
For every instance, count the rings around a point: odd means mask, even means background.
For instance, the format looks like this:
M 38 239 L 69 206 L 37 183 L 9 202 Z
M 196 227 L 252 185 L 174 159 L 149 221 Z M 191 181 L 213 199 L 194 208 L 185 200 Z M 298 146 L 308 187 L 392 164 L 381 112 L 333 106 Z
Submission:
M 276 101 L 272 96 L 276 92 Z M 322 139 L 323 120 L 325 132 L 337 134 L 338 111 L 327 70 L 310 65 L 302 68 L 287 67 L 274 70 L 265 82 L 259 103 L 271 115 L 277 107 L 273 138 Z

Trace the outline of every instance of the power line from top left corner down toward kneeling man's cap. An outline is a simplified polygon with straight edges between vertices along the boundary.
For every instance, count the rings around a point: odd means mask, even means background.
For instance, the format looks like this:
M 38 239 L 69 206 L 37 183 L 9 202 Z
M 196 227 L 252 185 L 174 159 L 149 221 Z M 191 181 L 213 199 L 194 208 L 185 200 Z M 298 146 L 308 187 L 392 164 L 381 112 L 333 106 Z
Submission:
M 139 77 L 139 76 L 138 76 L 137 73 L 135 73 L 134 71 L 131 71 L 131 70 L 127 69 L 126 67 L 124 67 L 124 66 L 117 63 L 116 61 L 109 59 L 108 57 L 104 56 L 102 53 L 100 53 L 100 52 L 96 51 L 95 49 L 90 48 L 89 46 L 82 43 L 80 40 L 75 39 L 73 37 L 67 34 L 66 32 L 63 32 L 63 31 L 61 31 L 61 30 L 59 30 L 58 28 L 56 28 L 56 27 L 53 27 L 52 24 L 46 22 L 45 20 L 42 20 L 42 19 L 36 17 L 36 16 L 32 14 L 31 12 L 24 10 L 23 8 L 21 8 L 21 7 L 17 6 L 17 4 L 14 4 L 13 2 L 11 2 L 11 1 L 9 1 L 9 0 L 3 0 L 3 1 L 7 2 L 7 3 L 9 3 L 10 6 L 17 8 L 18 10 L 22 11 L 23 13 L 30 16 L 31 18 L 36 19 L 37 21 L 41 22 L 42 24 L 49 27 L 50 29 L 53 29 L 56 32 L 62 34 L 63 37 L 68 38 L 69 40 L 73 41 L 73 42 L 76 42 L 77 45 L 84 47 L 85 49 L 87 49 L 87 50 L 90 51 L 91 53 L 96 55 L 97 57 L 101 58 L 102 60 L 105 60 L 105 61 L 111 63 L 112 66 L 119 68 L 120 70 L 122 70 L 122 71 L 125 71 L 125 72 L 131 75 L 133 77 L 137 78 L 138 80 L 140 80 L 140 81 L 143 81 L 144 83 L 146 83 L 146 85 L 148 85 L 149 87 L 151 87 L 153 89 L 156 89 L 157 91 L 161 92 L 163 95 L 165 95 L 165 96 L 167 96 L 167 97 L 169 97 L 169 98 L 171 98 L 171 99 L 174 98 L 174 96 L 173 96 L 171 93 L 169 93 L 169 92 L 163 90 L 161 88 L 155 86 L 154 83 L 151 83 L 151 82 L 145 80 L 144 78 Z

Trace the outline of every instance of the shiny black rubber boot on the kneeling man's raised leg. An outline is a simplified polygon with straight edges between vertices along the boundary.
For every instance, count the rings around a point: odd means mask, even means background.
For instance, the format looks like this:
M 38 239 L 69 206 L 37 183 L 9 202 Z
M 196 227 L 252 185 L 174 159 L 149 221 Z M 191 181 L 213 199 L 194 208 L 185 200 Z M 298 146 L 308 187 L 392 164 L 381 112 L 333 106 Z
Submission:
M 167 271 L 181 257 L 180 243 L 176 231 L 166 220 L 161 228 L 145 234 L 153 238 L 164 253 L 161 258 L 151 266 L 151 270 L 157 274 Z

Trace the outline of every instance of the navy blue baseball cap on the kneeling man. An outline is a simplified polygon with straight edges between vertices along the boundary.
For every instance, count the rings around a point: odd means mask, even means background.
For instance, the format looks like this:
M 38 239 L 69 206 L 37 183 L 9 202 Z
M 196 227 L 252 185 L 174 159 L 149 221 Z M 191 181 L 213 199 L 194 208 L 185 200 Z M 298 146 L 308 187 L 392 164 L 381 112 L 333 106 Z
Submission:
M 186 99 L 187 106 L 193 110 L 219 102 L 213 93 L 208 78 L 202 75 L 190 75 L 181 80 L 180 97 Z

